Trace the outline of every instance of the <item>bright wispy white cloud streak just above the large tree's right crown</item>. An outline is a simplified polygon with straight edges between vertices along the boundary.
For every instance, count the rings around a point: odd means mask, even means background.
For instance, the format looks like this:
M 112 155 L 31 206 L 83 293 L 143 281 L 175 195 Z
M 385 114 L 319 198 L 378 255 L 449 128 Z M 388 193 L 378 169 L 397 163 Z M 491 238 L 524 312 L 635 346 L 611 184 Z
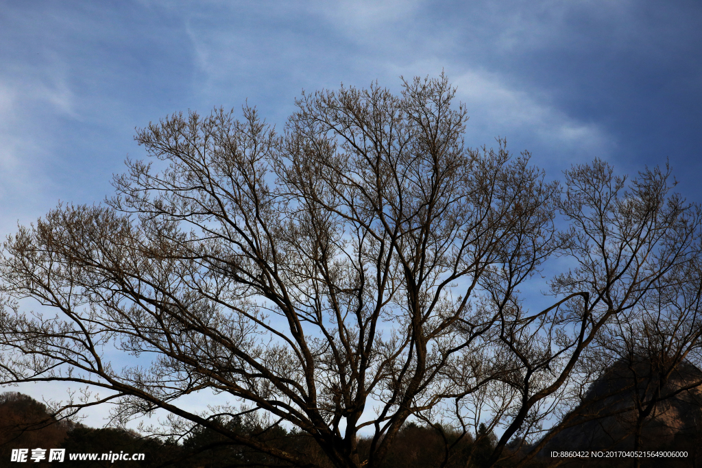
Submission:
M 494 138 L 507 138 L 510 150 L 530 149 L 540 165 L 556 162 L 553 158 L 562 161 L 567 157 L 568 163 L 576 159 L 590 161 L 595 156 L 607 158 L 616 147 L 614 137 L 600 124 L 567 114 L 554 102 L 548 89 L 530 87 L 516 76 L 468 68 L 456 60 L 436 59 L 402 67 L 388 64 L 383 76 L 435 77 L 442 69 L 457 89 L 456 104 L 461 101 L 468 109 L 469 146 L 491 147 L 495 145 Z M 391 79 L 390 83 L 397 83 L 397 79 Z M 552 155 L 551 160 L 545 154 Z M 560 168 L 562 164 L 557 166 Z

